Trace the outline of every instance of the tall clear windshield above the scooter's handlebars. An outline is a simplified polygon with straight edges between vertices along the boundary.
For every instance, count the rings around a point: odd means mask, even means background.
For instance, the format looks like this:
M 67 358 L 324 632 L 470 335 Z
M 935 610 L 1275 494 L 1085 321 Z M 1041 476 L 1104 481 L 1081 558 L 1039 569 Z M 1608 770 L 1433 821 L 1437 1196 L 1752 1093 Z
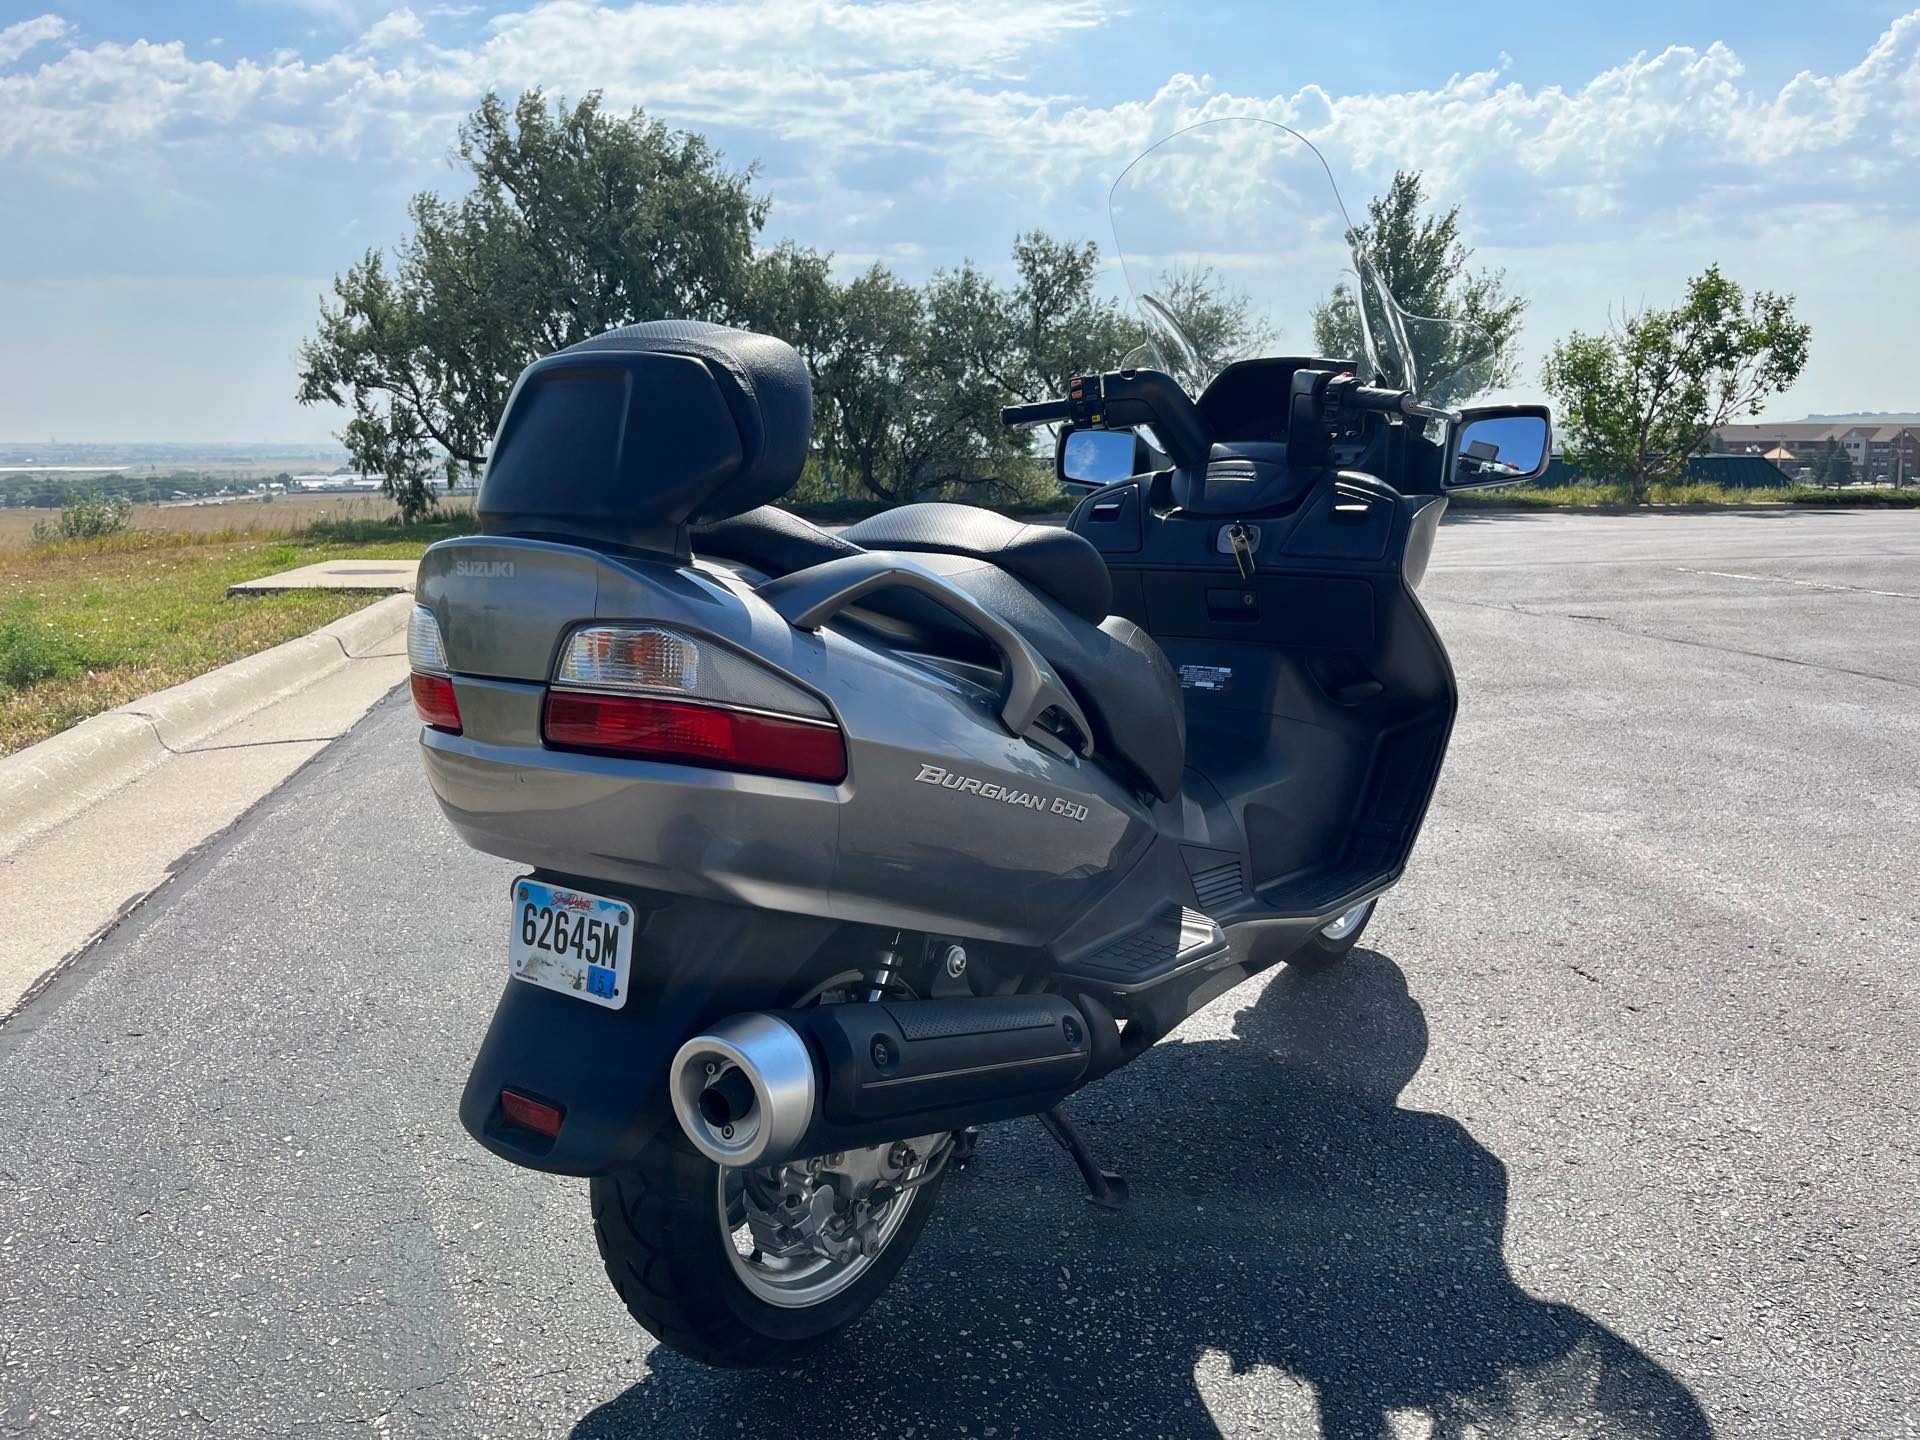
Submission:
M 1321 152 L 1256 117 L 1202 121 L 1139 156 L 1108 194 L 1146 344 L 1127 357 L 1200 394 L 1260 355 L 1350 361 L 1361 378 L 1457 405 L 1492 388 L 1494 336 L 1409 313 Z

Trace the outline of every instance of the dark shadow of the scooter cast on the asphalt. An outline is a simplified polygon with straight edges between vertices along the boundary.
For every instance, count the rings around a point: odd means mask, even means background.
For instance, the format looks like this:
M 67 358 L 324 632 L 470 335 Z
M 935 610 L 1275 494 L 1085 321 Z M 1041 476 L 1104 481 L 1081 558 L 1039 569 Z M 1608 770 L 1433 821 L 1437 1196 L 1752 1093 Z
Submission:
M 1711 1436 L 1657 1361 L 1513 1283 L 1505 1165 L 1398 1106 L 1425 1054 L 1384 954 L 1281 970 L 1233 1041 L 1160 1046 L 1073 1102 L 1125 1212 L 1085 1206 L 1037 1123 L 989 1131 L 851 1332 L 772 1373 L 657 1348 L 574 1436 L 1373 1440 L 1409 1432 L 1394 1413 L 1436 1440 Z

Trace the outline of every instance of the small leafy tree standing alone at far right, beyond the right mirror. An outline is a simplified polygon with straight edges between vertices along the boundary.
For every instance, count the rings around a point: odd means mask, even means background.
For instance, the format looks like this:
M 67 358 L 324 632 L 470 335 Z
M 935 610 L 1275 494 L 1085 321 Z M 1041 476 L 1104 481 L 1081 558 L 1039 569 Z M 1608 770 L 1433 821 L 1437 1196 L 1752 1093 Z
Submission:
M 1636 503 L 1674 484 L 1709 436 L 1759 415 L 1807 365 L 1812 330 L 1793 298 L 1745 290 L 1718 265 L 1688 282 L 1674 309 L 1644 309 L 1605 334 L 1553 346 L 1542 380 L 1559 405 L 1567 461 L 1622 480 Z

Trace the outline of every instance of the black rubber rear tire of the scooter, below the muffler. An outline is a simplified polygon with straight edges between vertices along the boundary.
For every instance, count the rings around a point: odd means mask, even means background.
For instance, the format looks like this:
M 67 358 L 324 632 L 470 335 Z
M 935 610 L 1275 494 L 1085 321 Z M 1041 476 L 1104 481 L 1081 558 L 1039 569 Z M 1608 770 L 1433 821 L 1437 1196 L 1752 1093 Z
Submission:
M 778 1365 L 852 1325 L 906 1261 L 947 1179 L 943 1169 L 900 1196 L 908 1212 L 899 1229 L 847 1288 L 810 1306 L 772 1306 L 728 1254 L 718 1171 L 666 1127 L 632 1169 L 597 1177 L 591 1196 L 601 1261 L 628 1313 L 660 1344 L 724 1367 Z

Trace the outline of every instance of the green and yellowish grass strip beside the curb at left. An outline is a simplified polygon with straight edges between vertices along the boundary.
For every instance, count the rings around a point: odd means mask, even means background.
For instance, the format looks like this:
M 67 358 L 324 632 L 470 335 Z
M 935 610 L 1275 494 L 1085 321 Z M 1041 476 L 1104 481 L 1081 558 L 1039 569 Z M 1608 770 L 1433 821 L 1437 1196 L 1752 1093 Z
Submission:
M 351 518 L 294 534 L 132 530 L 0 549 L 0 755 L 372 603 L 305 591 L 228 599 L 238 580 L 336 559 L 411 559 L 472 528 Z

